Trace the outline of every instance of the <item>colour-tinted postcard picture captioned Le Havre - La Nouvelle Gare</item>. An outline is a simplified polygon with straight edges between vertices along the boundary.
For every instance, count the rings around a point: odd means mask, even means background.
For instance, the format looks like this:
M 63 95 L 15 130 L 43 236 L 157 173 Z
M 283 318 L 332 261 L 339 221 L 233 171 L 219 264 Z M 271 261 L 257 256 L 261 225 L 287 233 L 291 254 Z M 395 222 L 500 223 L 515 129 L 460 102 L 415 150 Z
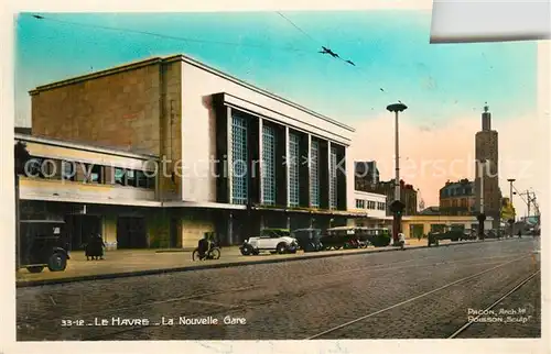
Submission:
M 541 339 L 540 43 L 314 10 L 18 13 L 18 343 Z

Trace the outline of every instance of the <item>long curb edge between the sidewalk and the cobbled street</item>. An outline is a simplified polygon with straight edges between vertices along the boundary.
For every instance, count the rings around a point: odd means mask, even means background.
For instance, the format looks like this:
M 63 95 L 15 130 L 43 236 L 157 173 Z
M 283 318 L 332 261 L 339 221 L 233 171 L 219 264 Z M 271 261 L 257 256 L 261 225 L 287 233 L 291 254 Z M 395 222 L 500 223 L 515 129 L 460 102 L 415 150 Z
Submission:
M 462 242 L 462 243 L 446 243 L 439 246 L 433 247 L 447 247 L 447 246 L 457 246 L 473 243 L 486 243 L 499 241 L 497 239 L 489 239 L 485 241 L 472 241 L 472 242 Z M 420 246 L 407 246 L 403 251 L 408 250 L 419 250 L 419 248 L 429 248 L 426 245 Z M 191 270 L 204 270 L 204 269 L 218 269 L 218 268 L 230 268 L 230 267 L 239 267 L 247 265 L 257 265 L 257 264 L 270 264 L 270 263 L 283 263 L 283 262 L 296 262 L 304 259 L 320 259 L 320 258 L 328 258 L 328 257 L 343 257 L 343 256 L 352 256 L 352 255 L 361 255 L 369 253 L 382 253 L 382 252 L 397 252 L 402 251 L 399 247 L 395 248 L 381 248 L 381 250 L 364 250 L 357 251 L 354 253 L 339 252 L 339 253 L 327 253 L 327 254 L 314 254 L 314 255 L 301 255 L 296 257 L 289 258 L 268 258 L 268 259 L 259 259 L 259 261 L 239 261 L 234 263 L 216 263 L 216 264 L 203 264 L 203 265 L 192 265 L 192 266 L 183 266 L 175 268 L 161 268 L 161 269 L 147 269 L 147 270 L 137 270 L 137 272 L 122 272 L 122 273 L 111 273 L 111 274 L 98 274 L 98 275 L 83 275 L 60 279 L 40 279 L 40 280 L 21 280 L 15 281 L 15 288 L 26 288 L 26 287 L 35 287 L 35 286 L 44 286 L 44 285 L 56 285 L 56 284 L 66 284 L 66 283 L 76 283 L 76 281 L 89 281 L 89 280 L 104 280 L 104 279 L 114 279 L 114 278 L 129 278 L 129 277 L 138 277 L 138 276 L 147 276 L 147 275 L 160 275 L 160 274 L 170 274 L 177 272 L 191 272 Z

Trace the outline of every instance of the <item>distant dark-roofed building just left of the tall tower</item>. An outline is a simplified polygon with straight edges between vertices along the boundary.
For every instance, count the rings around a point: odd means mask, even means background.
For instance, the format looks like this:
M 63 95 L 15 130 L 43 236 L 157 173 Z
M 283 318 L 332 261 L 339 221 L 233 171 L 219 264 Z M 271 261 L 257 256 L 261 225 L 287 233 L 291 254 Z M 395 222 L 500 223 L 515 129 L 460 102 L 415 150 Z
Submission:
M 444 215 L 472 215 L 475 211 L 474 182 L 468 179 L 447 181 L 440 189 L 440 212 Z

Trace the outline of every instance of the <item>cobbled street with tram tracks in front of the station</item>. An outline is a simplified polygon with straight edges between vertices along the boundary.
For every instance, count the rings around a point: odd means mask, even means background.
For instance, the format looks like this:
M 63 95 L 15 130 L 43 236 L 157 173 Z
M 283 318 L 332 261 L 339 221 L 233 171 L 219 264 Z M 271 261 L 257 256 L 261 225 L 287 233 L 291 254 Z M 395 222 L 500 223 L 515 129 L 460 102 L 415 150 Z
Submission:
M 445 339 L 532 274 L 456 338 L 538 338 L 534 250 L 525 237 L 19 288 L 18 340 Z

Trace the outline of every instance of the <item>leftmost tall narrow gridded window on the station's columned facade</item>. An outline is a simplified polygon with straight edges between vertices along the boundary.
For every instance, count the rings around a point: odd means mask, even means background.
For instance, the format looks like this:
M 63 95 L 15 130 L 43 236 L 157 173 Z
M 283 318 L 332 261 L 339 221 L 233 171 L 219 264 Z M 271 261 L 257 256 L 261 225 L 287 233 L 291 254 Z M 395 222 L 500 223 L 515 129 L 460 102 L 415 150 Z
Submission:
M 246 204 L 248 200 L 247 120 L 231 117 L 231 202 Z

